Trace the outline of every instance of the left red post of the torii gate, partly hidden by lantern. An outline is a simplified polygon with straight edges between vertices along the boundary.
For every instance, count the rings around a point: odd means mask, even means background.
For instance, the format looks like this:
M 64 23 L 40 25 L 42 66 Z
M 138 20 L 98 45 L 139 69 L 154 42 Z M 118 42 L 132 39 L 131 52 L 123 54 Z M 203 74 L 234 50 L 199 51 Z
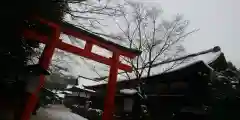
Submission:
M 54 26 L 53 29 L 54 29 L 53 30 L 54 34 L 53 34 L 51 40 L 48 41 L 48 44 L 46 44 L 43 54 L 39 60 L 39 64 L 44 69 L 48 69 L 49 64 L 51 63 L 54 49 L 56 48 L 59 37 L 60 37 L 60 27 Z M 28 98 L 27 105 L 23 111 L 23 115 L 21 116 L 21 120 L 29 120 L 30 119 L 31 113 L 37 103 L 37 100 L 38 100 L 37 95 L 38 95 L 40 89 L 42 88 L 44 81 L 45 81 L 45 77 L 44 77 L 44 75 L 41 75 L 39 86 L 36 88 L 36 91 L 34 93 L 32 93 L 31 96 Z

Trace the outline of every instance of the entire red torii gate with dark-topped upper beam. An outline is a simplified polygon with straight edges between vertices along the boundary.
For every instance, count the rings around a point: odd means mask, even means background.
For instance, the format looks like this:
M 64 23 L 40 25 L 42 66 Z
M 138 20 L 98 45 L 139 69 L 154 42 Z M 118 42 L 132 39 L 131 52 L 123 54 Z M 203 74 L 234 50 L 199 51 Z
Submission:
M 91 32 L 77 28 L 69 23 L 63 22 L 60 25 L 60 24 L 56 24 L 54 22 L 51 22 L 51 21 L 48 21 L 48 20 L 45 20 L 42 18 L 37 18 L 37 20 L 41 24 L 48 25 L 53 30 L 52 35 L 49 37 L 49 36 L 40 34 L 34 30 L 25 29 L 23 32 L 23 36 L 29 40 L 37 40 L 41 43 L 46 44 L 44 51 L 42 53 L 42 56 L 39 59 L 39 64 L 44 69 L 48 69 L 55 48 L 58 48 L 58 49 L 61 49 L 61 50 L 64 50 L 64 51 L 67 51 L 70 53 L 74 53 L 76 55 L 83 56 L 85 58 L 92 59 L 97 62 L 100 62 L 100 63 L 110 66 L 110 73 L 109 73 L 110 75 L 109 75 L 109 81 L 108 81 L 108 87 L 107 87 L 107 95 L 105 98 L 104 112 L 103 112 L 102 119 L 103 120 L 111 120 L 112 114 L 114 112 L 114 97 L 115 97 L 115 87 L 116 87 L 118 69 L 125 70 L 127 72 L 132 71 L 131 66 L 122 64 L 119 61 L 119 57 L 120 57 L 120 55 L 122 55 L 122 56 L 128 57 L 130 59 L 133 59 L 137 55 L 140 55 L 141 52 L 137 51 L 137 50 L 125 48 L 123 46 L 120 46 L 120 45 L 115 44 L 110 41 L 106 41 L 105 39 L 103 39 Z M 62 40 L 59 39 L 61 32 L 86 41 L 85 48 L 84 49 L 78 48 L 76 46 L 62 42 Z M 97 55 L 95 53 L 92 53 L 91 50 L 92 50 L 93 45 L 98 45 L 102 48 L 110 50 L 113 53 L 112 57 L 106 58 L 106 57 Z M 21 120 L 29 120 L 30 119 L 31 112 L 37 102 L 37 94 L 39 93 L 43 84 L 44 84 L 44 75 L 41 75 L 40 76 L 40 84 L 39 84 L 38 88 L 36 89 L 36 91 L 29 97 L 29 99 L 27 101 L 28 104 L 26 105 L 26 107 L 23 111 Z

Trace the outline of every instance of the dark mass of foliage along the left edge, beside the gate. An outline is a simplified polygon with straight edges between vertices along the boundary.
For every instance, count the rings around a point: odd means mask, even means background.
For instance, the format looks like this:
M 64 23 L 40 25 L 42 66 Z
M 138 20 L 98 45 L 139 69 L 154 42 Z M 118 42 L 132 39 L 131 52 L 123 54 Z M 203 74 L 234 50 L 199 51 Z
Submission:
M 26 81 L 20 81 L 20 77 L 24 78 L 29 74 L 25 68 L 36 54 L 35 49 L 39 47 L 39 43 L 24 39 L 22 36 L 24 28 L 37 29 L 49 34 L 51 32 L 49 28 L 40 27 L 42 25 L 30 19 L 39 16 L 60 23 L 63 11 L 67 10 L 65 0 L 6 0 L 1 3 L 0 95 L 4 98 L 1 99 L 1 103 L 7 108 L 22 111 L 25 102 L 22 98 L 28 95 L 25 94 Z M 3 105 L 1 110 L 4 109 Z M 19 119 L 21 112 L 16 113 L 18 117 L 15 119 Z

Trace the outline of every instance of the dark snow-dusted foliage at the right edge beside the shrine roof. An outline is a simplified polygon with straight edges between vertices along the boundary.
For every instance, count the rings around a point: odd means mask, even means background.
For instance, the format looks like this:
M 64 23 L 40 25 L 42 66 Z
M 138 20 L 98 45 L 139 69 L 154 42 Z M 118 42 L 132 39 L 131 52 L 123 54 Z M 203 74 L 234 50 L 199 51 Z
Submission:
M 238 120 L 240 105 L 240 72 L 228 62 L 228 68 L 216 71 L 210 83 L 211 104 L 208 106 L 211 120 Z

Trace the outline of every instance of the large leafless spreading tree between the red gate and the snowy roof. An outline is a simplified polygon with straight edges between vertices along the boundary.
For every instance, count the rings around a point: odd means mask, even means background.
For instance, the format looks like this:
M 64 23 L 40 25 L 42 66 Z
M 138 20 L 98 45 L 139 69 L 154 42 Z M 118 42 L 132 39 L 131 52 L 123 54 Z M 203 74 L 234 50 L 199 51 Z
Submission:
M 123 58 L 124 62 L 133 67 L 133 74 L 121 72 L 129 79 L 151 76 L 154 68 L 161 67 L 157 63 L 182 56 L 185 49 L 181 42 L 197 31 L 186 32 L 189 21 L 184 20 L 181 15 L 177 15 L 173 20 L 164 20 L 161 9 L 145 7 L 141 3 L 126 2 L 120 7 L 120 11 L 121 16 L 114 17 L 120 32 L 112 38 L 127 43 L 125 45 L 129 48 L 142 51 L 141 56 L 134 60 Z M 174 61 L 161 72 L 171 70 L 185 61 L 186 59 Z

